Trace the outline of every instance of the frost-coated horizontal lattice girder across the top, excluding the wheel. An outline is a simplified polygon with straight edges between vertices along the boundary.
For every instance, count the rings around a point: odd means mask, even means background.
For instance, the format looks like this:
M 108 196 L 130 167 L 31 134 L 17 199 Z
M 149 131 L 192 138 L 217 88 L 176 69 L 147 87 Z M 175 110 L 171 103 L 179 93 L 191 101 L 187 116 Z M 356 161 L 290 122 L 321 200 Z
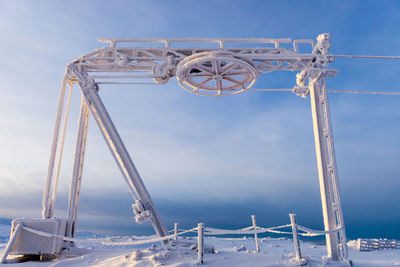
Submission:
M 168 82 L 171 77 L 176 76 L 182 61 L 203 53 L 231 54 L 234 58 L 251 62 L 258 74 L 272 71 L 302 71 L 318 62 L 325 64 L 333 61 L 333 57 L 328 55 L 312 53 L 316 49 L 313 40 L 294 40 L 292 42 L 290 39 L 258 38 L 107 39 L 101 41 L 111 43 L 111 47 L 96 49 L 71 62 L 71 64 L 82 66 L 92 77 L 99 80 L 150 78 L 153 83 L 163 84 Z M 121 43 L 125 46 L 117 46 Z M 164 47 L 138 47 L 140 43 L 159 43 Z M 171 47 L 173 43 L 184 45 L 183 47 Z M 186 43 L 202 45 L 186 47 Z M 215 47 L 215 43 L 219 47 Z M 300 43 L 308 44 L 309 53 L 299 52 L 298 45 Z M 240 45 L 240 47 L 227 47 L 227 44 Z M 281 47 L 282 44 L 286 44 L 287 47 Z M 292 44 L 293 47 L 289 47 L 287 44 Z M 251 69 L 249 71 L 252 72 Z M 116 75 L 116 73 L 123 73 L 123 75 Z M 180 85 L 182 86 L 182 84 Z M 187 90 L 187 88 L 185 89 Z M 196 90 L 191 91 L 195 92 Z

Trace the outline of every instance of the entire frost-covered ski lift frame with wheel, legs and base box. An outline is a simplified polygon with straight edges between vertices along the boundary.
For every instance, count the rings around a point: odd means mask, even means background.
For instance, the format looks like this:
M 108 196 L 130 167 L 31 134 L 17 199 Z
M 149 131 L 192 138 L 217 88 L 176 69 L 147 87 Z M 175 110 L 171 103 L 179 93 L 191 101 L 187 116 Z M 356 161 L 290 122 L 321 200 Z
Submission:
M 326 78 L 334 77 L 338 72 L 328 68 L 334 60 L 334 56 L 328 53 L 329 34 L 320 34 L 316 41 L 266 38 L 99 41 L 109 46 L 84 54 L 66 66 L 43 193 L 42 218 L 14 220 L 7 253 L 57 256 L 63 249 L 74 246 L 90 115 L 96 121 L 128 185 L 134 200 L 132 207 L 136 222 L 151 221 L 157 235 L 167 235 L 150 194 L 99 96 L 101 84 L 140 84 L 143 79 L 166 84 L 176 77 L 178 84 L 188 92 L 204 96 L 227 96 L 254 90 L 253 85 L 265 73 L 296 71 L 296 85 L 292 92 L 311 99 L 324 227 L 329 232 L 326 234 L 327 257 L 332 261 L 351 263 L 348 259 L 326 86 Z M 299 44 L 307 46 L 308 53 L 300 52 Z M 81 107 L 68 213 L 66 219 L 59 219 L 54 217 L 54 207 L 71 91 L 75 84 L 81 92 Z M 53 236 L 38 237 L 24 231 L 20 227 L 22 224 L 52 233 Z M 168 243 L 168 240 L 163 242 Z

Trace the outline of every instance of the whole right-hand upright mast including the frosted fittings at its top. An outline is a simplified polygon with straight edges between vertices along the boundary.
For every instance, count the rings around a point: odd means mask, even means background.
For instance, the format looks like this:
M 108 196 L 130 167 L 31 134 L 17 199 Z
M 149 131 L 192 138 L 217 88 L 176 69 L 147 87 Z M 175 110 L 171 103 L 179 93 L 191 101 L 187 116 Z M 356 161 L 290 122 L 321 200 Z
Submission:
M 328 92 L 325 82 L 325 77 L 329 74 L 329 70 L 325 69 L 329 59 L 323 57 L 323 55 L 327 55 L 328 53 L 330 46 L 329 39 L 329 34 L 318 36 L 318 43 L 313 50 L 313 54 L 319 54 L 322 57 L 299 73 L 297 83 L 299 86 L 305 86 L 306 78 L 309 79 L 308 90 L 311 98 L 324 226 L 325 231 L 333 231 L 326 234 L 328 258 L 333 261 L 342 260 L 345 263 L 349 263 L 350 261 L 347 259 L 346 232 L 340 202 Z

